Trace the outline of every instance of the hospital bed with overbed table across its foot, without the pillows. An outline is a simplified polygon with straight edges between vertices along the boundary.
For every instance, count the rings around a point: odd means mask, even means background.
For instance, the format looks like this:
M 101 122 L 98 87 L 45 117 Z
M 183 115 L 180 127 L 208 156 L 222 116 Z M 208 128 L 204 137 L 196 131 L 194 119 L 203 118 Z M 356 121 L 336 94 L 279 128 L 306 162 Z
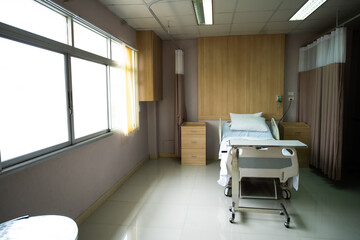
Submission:
M 221 123 L 219 123 L 221 124 Z M 289 227 L 290 217 L 281 203 L 280 208 L 255 208 L 239 206 L 241 182 L 246 178 L 269 178 L 280 182 L 282 195 L 290 198 L 288 187 L 298 189 L 299 166 L 295 147 L 306 147 L 300 141 L 279 140 L 277 124 L 271 120 L 266 131 L 233 131 L 230 122 L 219 125 L 221 171 L 218 183 L 229 188 L 232 177 L 232 206 L 230 207 L 233 223 L 235 212 L 280 213 L 286 216 L 285 227 Z M 221 128 L 220 128 L 221 126 Z M 292 183 L 292 184 L 290 184 Z M 277 199 L 276 186 L 274 199 Z M 240 192 L 239 192 L 240 189 Z M 240 196 L 239 196 L 240 195 Z

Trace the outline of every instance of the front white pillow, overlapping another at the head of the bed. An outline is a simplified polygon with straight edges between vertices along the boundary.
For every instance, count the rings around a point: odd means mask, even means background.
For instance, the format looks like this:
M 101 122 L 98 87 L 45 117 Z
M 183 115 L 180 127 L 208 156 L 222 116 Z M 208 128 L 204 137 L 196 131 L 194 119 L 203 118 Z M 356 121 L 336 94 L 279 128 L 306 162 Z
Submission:
M 231 119 L 231 130 L 266 132 L 265 118 L 255 116 L 236 116 Z

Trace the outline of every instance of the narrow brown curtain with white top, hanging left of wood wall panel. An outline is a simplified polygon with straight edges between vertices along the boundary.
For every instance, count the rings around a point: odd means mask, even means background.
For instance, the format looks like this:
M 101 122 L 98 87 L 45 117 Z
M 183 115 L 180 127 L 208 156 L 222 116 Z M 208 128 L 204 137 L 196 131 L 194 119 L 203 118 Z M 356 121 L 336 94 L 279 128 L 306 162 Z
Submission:
M 175 50 L 175 155 L 181 155 L 181 124 L 186 119 L 184 52 Z

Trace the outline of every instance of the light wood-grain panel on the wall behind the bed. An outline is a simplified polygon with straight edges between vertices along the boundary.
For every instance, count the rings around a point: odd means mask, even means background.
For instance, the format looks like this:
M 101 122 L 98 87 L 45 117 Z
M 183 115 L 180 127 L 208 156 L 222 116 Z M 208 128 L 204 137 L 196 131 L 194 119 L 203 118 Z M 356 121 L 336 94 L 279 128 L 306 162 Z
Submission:
M 198 39 L 198 119 L 263 112 L 280 119 L 284 92 L 284 35 Z

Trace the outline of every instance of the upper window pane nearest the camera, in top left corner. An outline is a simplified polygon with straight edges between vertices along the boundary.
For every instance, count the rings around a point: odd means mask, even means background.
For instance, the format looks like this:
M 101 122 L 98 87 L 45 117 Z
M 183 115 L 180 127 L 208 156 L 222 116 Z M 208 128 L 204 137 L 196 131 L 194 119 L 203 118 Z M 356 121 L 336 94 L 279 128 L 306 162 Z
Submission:
M 67 44 L 63 15 L 31 0 L 1 0 L 0 22 Z

